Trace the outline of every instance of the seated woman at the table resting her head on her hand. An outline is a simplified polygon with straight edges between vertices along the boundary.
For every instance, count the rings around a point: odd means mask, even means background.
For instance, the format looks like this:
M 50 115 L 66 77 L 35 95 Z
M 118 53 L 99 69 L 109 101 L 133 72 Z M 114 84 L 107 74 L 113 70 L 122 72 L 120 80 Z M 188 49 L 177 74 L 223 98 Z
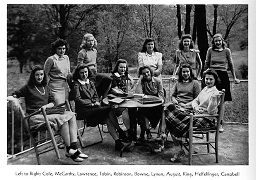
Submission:
M 164 100 L 164 89 L 161 79 L 153 76 L 153 71 L 149 66 L 142 66 L 139 68 L 139 79 L 134 86 L 135 93 L 144 93 L 146 95 L 154 95 Z M 151 108 L 138 108 L 137 119 L 140 123 L 140 138 L 138 140 L 144 140 L 145 131 L 147 134 L 147 140 L 153 140 L 148 126 L 148 122 L 152 128 L 156 128 L 159 120 L 162 116 L 162 105 Z

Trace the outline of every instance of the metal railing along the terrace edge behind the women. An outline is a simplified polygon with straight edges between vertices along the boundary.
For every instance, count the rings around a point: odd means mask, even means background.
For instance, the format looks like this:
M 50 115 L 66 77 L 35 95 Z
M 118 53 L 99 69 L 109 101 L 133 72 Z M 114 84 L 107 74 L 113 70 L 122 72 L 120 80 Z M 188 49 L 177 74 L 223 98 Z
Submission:
M 136 81 L 138 79 L 134 80 Z M 174 89 L 174 83 L 170 80 L 170 78 L 162 78 L 162 81 L 163 86 L 167 92 L 166 102 L 169 102 Z M 232 79 L 230 79 L 230 82 L 233 101 L 225 103 L 224 123 L 235 125 L 248 125 L 248 80 L 240 80 L 240 83 L 238 85 L 234 84 L 232 82 Z M 7 145 L 7 148 L 9 149 L 7 149 L 7 151 L 9 151 L 10 153 L 7 153 L 7 159 L 18 156 L 19 154 L 23 154 L 24 152 L 28 152 L 29 150 L 33 149 L 31 140 L 24 140 L 24 128 L 22 118 L 19 118 L 17 115 L 15 115 L 12 105 L 8 105 L 8 108 L 11 108 L 9 109 L 11 118 L 7 119 L 8 121 L 10 121 L 9 124 L 11 124 L 9 125 L 9 127 L 11 127 L 11 132 L 8 133 L 8 136 L 11 136 L 8 137 L 8 141 L 11 142 L 8 142 Z M 18 126 L 15 127 L 15 124 L 18 124 Z M 83 123 L 78 121 L 78 127 L 81 128 L 82 126 Z M 17 131 L 20 132 L 20 138 L 18 138 L 19 142 L 16 142 L 14 140 L 14 132 Z M 38 138 L 40 138 L 40 136 L 41 134 L 38 133 Z M 47 136 L 47 134 L 44 134 L 44 136 Z M 46 141 L 40 145 L 44 145 L 48 142 L 50 141 Z M 17 146 L 18 148 L 14 150 L 14 148 Z

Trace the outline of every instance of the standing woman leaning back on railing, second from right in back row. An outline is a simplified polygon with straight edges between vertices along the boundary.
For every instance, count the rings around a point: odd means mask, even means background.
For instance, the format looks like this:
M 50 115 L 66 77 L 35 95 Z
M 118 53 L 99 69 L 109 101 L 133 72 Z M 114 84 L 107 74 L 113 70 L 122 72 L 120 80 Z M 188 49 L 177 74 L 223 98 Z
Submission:
M 190 34 L 184 34 L 182 35 L 179 43 L 179 50 L 175 53 L 175 65 L 173 70 L 173 75 L 171 77 L 171 80 L 174 81 L 175 75 L 180 67 L 180 65 L 184 63 L 188 63 L 193 70 L 194 75 L 196 75 L 197 78 L 200 77 L 200 72 L 202 69 L 202 61 L 200 59 L 199 50 L 193 49 L 194 42 L 192 41 L 192 37 Z M 197 69 L 198 64 L 198 69 Z

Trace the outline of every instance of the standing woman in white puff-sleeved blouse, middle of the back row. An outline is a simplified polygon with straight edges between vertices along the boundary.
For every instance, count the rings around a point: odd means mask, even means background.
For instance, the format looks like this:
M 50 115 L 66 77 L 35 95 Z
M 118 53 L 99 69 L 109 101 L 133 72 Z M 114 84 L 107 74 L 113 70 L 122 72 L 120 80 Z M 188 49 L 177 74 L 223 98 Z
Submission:
M 162 53 L 156 49 L 156 42 L 153 38 L 145 40 L 142 50 L 138 53 L 139 67 L 148 65 L 153 70 L 153 76 L 162 78 Z

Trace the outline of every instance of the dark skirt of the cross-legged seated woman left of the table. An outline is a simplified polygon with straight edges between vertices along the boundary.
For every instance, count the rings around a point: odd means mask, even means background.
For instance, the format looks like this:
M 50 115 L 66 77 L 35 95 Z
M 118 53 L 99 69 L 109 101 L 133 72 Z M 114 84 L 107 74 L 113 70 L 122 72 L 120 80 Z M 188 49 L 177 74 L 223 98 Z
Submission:
M 112 111 L 111 107 L 92 107 L 86 108 L 82 111 L 82 114 L 79 114 L 79 117 L 83 117 L 86 119 L 86 126 L 87 127 L 96 127 L 97 125 L 101 124 L 104 125 L 109 118 L 109 113 Z M 81 120 L 81 119 L 77 119 Z

